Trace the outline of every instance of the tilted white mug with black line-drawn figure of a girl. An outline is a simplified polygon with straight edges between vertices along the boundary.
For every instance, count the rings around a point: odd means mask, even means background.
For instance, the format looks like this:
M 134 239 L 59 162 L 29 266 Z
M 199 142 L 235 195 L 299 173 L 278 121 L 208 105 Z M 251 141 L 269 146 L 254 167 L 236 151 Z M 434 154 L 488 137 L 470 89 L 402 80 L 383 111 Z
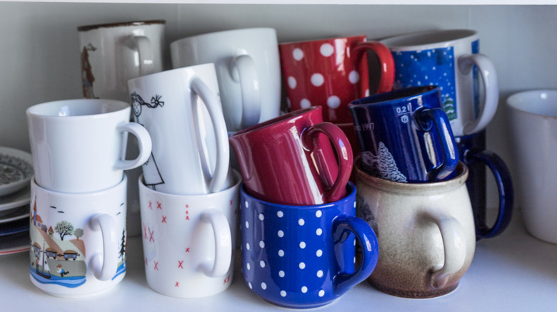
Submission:
M 146 185 L 171 194 L 226 189 L 230 146 L 213 64 L 129 80 L 134 120 L 153 139 Z

